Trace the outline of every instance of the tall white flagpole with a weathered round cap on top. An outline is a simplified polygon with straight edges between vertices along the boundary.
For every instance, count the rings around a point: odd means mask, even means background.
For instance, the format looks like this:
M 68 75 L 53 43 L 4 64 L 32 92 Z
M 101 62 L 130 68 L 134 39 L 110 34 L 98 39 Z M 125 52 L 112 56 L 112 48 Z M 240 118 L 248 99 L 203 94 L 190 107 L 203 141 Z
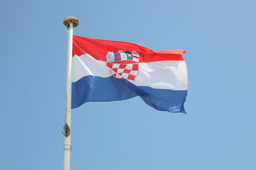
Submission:
M 63 24 L 67 26 L 67 84 L 66 84 L 66 109 L 65 109 L 65 125 L 63 126 L 64 142 L 64 170 L 70 170 L 70 152 L 71 152 L 71 65 L 72 65 L 72 42 L 73 28 L 78 26 L 79 21 L 75 17 L 66 17 Z

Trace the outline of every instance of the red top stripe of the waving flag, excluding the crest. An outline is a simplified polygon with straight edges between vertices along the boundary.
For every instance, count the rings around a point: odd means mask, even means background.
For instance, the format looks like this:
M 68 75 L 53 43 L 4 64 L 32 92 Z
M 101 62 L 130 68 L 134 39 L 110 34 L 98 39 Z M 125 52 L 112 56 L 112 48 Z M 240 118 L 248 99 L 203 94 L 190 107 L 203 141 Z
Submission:
M 183 60 L 185 50 L 153 51 L 130 42 L 97 40 L 73 35 L 72 55 L 89 54 L 96 60 L 107 61 L 106 55 L 110 51 L 136 51 L 139 53 L 139 62 L 157 62 L 165 60 Z M 119 54 L 120 56 L 120 54 Z M 120 56 L 121 57 L 121 56 Z

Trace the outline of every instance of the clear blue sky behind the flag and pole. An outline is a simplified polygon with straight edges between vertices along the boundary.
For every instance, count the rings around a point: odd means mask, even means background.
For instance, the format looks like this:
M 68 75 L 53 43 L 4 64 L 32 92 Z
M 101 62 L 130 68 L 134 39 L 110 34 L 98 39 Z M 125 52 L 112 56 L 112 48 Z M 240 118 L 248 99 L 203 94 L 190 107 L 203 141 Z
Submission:
M 187 114 L 139 97 L 72 110 L 71 170 L 255 170 L 256 2 L 3 1 L 0 169 L 62 170 L 67 16 L 74 35 L 185 49 Z

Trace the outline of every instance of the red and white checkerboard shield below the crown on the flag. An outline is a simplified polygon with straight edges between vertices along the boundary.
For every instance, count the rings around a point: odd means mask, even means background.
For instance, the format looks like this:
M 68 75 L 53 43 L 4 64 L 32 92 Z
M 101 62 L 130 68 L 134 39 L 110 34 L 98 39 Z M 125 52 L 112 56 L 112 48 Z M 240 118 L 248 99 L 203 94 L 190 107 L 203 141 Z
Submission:
M 118 79 L 127 79 L 133 83 L 139 73 L 139 63 L 120 64 L 115 62 L 107 62 L 114 77 Z

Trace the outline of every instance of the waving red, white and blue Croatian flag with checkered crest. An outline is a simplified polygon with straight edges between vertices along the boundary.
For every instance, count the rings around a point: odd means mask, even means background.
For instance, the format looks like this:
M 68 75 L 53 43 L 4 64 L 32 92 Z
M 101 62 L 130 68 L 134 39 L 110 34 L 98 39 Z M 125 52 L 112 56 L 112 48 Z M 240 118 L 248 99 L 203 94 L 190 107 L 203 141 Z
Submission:
M 74 35 L 72 108 L 139 96 L 157 110 L 186 113 L 188 74 L 183 53 Z

